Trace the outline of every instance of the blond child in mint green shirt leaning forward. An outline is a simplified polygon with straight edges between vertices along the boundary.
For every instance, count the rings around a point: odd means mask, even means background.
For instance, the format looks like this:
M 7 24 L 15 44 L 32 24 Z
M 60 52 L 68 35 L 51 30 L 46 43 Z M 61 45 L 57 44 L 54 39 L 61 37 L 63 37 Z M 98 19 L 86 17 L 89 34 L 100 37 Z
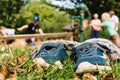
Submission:
M 110 14 L 105 12 L 102 14 L 101 17 L 103 21 L 101 26 L 107 30 L 109 35 L 109 40 L 120 48 L 120 37 L 117 31 L 114 29 L 112 23 L 110 22 Z

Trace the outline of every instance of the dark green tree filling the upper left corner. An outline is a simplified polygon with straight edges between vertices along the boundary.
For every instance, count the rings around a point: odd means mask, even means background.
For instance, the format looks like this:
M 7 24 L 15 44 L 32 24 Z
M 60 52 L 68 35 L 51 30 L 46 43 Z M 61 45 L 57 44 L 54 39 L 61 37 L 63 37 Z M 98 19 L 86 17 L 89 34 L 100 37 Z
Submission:
M 17 14 L 22 5 L 24 5 L 23 0 L 1 0 L 0 25 L 14 28 L 16 26 Z

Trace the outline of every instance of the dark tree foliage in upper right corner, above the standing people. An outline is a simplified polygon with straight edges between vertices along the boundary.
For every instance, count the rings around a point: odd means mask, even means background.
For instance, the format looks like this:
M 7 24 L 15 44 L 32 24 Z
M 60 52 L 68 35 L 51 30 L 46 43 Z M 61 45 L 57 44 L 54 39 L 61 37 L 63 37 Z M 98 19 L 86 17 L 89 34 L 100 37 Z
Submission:
M 90 12 L 93 13 L 99 13 L 100 15 L 103 12 L 107 12 L 110 10 L 114 10 L 118 16 L 120 16 L 120 1 L 117 0 L 91 0 L 91 1 L 86 1 L 86 5 L 90 9 Z M 116 6 L 117 5 L 117 6 Z

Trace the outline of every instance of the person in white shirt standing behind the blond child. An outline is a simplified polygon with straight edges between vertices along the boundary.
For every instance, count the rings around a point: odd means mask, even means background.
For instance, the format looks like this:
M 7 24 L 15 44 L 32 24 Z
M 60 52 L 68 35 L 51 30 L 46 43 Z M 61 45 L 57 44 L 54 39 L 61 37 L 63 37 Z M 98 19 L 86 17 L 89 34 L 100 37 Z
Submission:
M 119 23 L 118 16 L 116 16 L 115 12 L 112 10 L 109 12 L 109 14 L 110 14 L 110 22 L 112 23 L 112 26 L 116 31 L 118 31 L 118 23 Z

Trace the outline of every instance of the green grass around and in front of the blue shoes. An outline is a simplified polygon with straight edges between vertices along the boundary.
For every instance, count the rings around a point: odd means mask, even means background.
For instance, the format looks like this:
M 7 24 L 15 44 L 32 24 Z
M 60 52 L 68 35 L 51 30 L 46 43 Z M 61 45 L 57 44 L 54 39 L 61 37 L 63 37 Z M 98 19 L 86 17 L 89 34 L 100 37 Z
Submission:
M 33 48 L 34 50 L 35 48 Z M 72 61 L 69 57 L 67 57 L 65 60 L 62 61 L 63 63 L 63 69 L 55 69 L 53 65 L 51 65 L 48 70 L 44 70 L 43 73 L 38 72 L 38 68 L 36 66 L 30 68 L 31 65 L 33 65 L 32 59 L 30 59 L 30 47 L 26 47 L 24 49 L 15 48 L 11 49 L 13 58 L 10 59 L 3 59 L 2 64 L 7 65 L 8 67 L 15 67 L 20 65 L 20 62 L 18 61 L 18 57 L 21 55 L 21 58 L 24 59 L 23 62 L 25 62 L 22 66 L 20 66 L 21 69 L 25 69 L 24 72 L 18 72 L 17 70 L 14 70 L 13 73 L 10 72 L 8 69 L 8 74 L 15 74 L 18 80 L 73 80 L 74 77 L 77 75 L 74 72 L 74 61 Z M 3 53 L 10 53 L 10 51 L 6 48 L 4 51 L 1 51 L 0 54 Z M 12 63 L 12 64 L 11 64 Z M 118 77 L 120 76 L 120 63 L 115 62 L 111 63 L 112 66 L 112 73 L 114 73 L 116 79 L 118 80 Z M 95 74 L 96 75 L 96 74 Z M 99 79 L 103 76 L 103 74 L 97 74 L 96 75 Z M 102 79 L 101 79 L 102 80 Z

